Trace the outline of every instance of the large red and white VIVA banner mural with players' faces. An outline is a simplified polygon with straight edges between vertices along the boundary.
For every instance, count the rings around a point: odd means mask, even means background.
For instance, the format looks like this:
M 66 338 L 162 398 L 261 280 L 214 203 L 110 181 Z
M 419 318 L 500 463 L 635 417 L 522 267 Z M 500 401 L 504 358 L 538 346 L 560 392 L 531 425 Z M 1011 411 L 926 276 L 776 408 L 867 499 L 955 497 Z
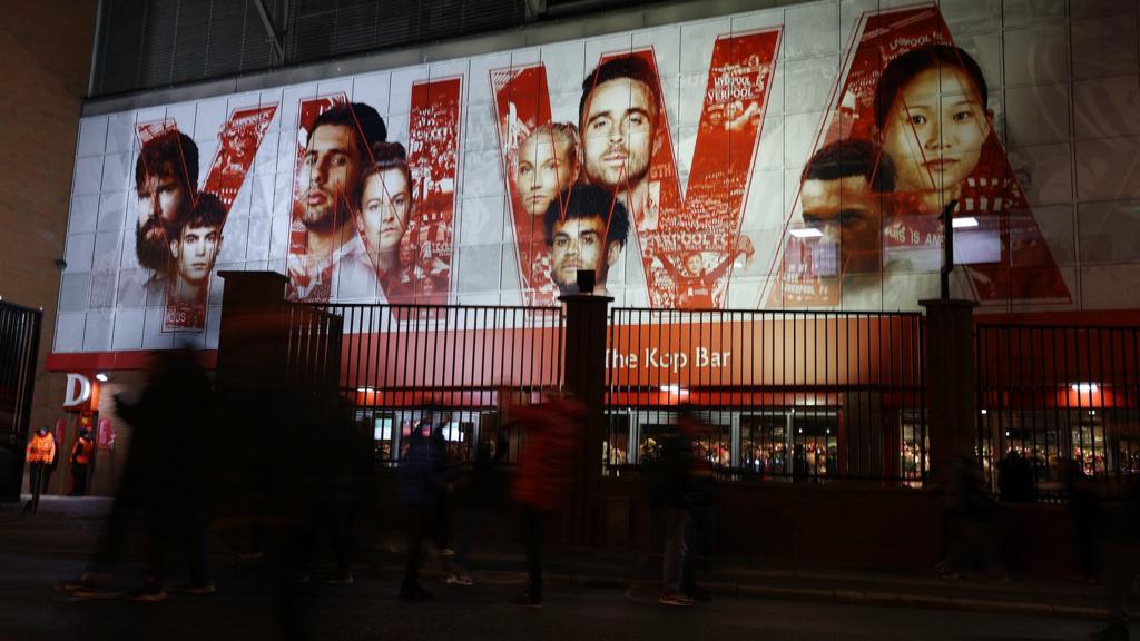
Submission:
M 1021 140 L 1066 68 L 1015 78 L 982 5 L 869 8 L 84 117 L 56 351 L 212 348 L 226 269 L 303 302 L 553 306 L 593 270 L 624 307 L 913 310 L 947 222 L 953 295 L 1080 308 L 1048 187 L 1075 145 Z

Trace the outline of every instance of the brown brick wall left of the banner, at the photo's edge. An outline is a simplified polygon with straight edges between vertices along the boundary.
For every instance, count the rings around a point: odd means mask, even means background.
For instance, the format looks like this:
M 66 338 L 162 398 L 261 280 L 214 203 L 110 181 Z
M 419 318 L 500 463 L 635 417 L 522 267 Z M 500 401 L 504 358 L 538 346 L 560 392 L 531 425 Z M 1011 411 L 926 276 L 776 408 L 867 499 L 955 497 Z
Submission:
M 64 375 L 48 374 L 80 107 L 87 92 L 96 0 L 7 2 L 0 21 L 0 297 L 43 308 L 32 424 L 55 423 Z M 64 463 L 65 461 L 62 461 Z M 52 474 L 52 493 L 70 474 Z

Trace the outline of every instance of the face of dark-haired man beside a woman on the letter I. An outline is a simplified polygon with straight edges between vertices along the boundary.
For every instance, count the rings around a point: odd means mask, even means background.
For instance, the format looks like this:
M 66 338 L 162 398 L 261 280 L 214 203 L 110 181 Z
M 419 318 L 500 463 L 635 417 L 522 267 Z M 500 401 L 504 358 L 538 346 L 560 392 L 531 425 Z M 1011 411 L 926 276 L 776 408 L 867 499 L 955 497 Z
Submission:
M 301 171 L 301 221 L 306 227 L 341 224 L 360 171 L 353 131 L 347 124 L 323 124 L 309 137 Z M 340 216 L 337 216 L 340 213 Z

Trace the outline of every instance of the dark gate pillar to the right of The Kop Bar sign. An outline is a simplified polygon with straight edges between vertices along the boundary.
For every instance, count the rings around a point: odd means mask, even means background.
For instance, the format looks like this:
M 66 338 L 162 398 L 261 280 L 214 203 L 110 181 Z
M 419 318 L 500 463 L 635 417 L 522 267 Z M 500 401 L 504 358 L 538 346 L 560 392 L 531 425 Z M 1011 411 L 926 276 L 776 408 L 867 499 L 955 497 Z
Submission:
M 929 478 L 938 482 L 954 456 L 974 454 L 978 414 L 974 308 L 978 303 L 969 300 L 923 300 L 919 305 L 927 313 Z

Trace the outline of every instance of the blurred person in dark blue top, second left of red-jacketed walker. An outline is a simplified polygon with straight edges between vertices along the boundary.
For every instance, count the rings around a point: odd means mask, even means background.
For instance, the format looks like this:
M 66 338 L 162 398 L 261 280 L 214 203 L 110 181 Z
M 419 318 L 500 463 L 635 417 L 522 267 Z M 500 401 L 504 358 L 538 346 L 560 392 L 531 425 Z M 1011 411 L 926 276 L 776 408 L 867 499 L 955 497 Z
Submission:
M 420 566 L 423 563 L 423 539 L 429 536 L 435 538 L 439 503 L 447 481 L 442 438 L 434 437 L 431 414 L 425 414 L 408 435 L 408 449 L 400 462 L 400 502 L 407 514 L 408 530 L 408 558 L 399 593 L 404 601 L 432 597 L 420 585 Z

